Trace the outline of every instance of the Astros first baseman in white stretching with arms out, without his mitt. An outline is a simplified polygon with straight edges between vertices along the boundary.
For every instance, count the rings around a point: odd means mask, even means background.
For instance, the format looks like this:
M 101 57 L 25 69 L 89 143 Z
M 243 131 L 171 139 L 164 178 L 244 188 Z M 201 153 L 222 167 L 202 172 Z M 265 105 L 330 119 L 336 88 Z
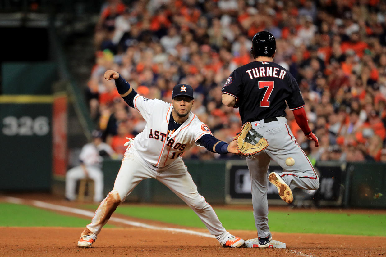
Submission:
M 236 141 L 227 144 L 215 138 L 208 126 L 191 112 L 193 88 L 186 84 L 174 86 L 169 104 L 140 96 L 118 72 L 106 71 L 105 79 L 115 79 L 119 94 L 141 113 L 146 126 L 134 139 L 129 139 L 113 190 L 81 233 L 78 246 L 90 248 L 118 205 L 146 178 L 154 178 L 170 188 L 200 217 L 222 247 L 243 246 L 244 240 L 225 230 L 213 208 L 198 193 L 181 158 L 194 144 L 219 154 L 238 152 Z

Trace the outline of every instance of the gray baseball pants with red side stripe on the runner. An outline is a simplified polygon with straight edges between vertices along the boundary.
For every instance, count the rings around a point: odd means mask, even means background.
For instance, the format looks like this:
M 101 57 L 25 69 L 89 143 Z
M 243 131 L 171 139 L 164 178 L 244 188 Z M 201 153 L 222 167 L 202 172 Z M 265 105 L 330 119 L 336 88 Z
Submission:
M 247 157 L 249 174 L 251 175 L 252 204 L 255 225 L 259 237 L 269 235 L 268 226 L 268 167 L 269 162 L 276 161 L 285 171 L 278 173 L 290 187 L 307 190 L 319 188 L 319 178 L 310 160 L 300 148 L 284 117 L 276 117 L 278 121 L 264 123 L 264 120 L 251 122 L 252 128 L 262 134 L 268 141 L 268 147 L 256 155 Z M 295 164 L 287 166 L 285 160 L 292 157 Z

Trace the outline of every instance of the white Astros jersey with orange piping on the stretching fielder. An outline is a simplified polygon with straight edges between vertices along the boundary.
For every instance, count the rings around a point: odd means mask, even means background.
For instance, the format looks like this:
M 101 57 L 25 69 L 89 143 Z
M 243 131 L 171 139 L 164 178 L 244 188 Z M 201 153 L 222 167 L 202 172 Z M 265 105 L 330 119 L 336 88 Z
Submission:
M 164 167 L 189 150 L 204 134 L 211 134 L 205 123 L 195 114 L 175 131 L 168 132 L 172 104 L 154 99 L 149 100 L 137 94 L 134 108 L 146 121 L 144 130 L 134 138 L 134 147 L 141 157 L 156 167 Z

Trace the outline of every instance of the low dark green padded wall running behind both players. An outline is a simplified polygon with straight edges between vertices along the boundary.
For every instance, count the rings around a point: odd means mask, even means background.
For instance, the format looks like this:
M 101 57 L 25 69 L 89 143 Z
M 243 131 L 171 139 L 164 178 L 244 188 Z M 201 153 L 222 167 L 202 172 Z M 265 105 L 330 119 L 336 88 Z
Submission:
M 210 204 L 251 202 L 250 193 L 227 190 L 236 185 L 232 178 L 237 170 L 247 169 L 244 161 L 197 161 L 185 160 L 188 172 L 195 181 L 198 192 Z M 115 177 L 118 174 L 121 161 L 105 160 L 103 172 L 105 175 L 105 194 L 112 190 Z M 232 165 L 236 168 L 232 173 Z M 236 165 L 236 166 L 235 166 Z M 279 166 L 271 165 L 274 170 Z M 309 200 L 320 206 L 385 208 L 386 207 L 386 164 L 385 163 L 337 163 L 322 162 L 315 165 L 321 175 L 321 187 Z M 235 174 L 234 174 L 235 173 Z M 243 173 L 244 174 L 244 173 Z M 237 174 L 236 174 L 237 175 Z M 247 175 L 245 173 L 244 175 Z M 245 177 L 245 176 L 244 176 Z M 240 177 L 241 179 L 241 177 Z M 234 182 L 232 182 L 234 181 Z M 240 186 L 239 186 L 240 187 Z M 240 187 L 241 188 L 241 187 Z M 240 190 L 240 189 L 239 189 Z M 276 190 L 276 188 L 274 188 Z M 326 191 L 327 190 L 327 191 Z M 329 193 L 330 192 L 330 193 Z M 233 194 L 233 195 L 232 195 Z M 275 192 L 269 195 L 273 204 L 285 204 Z M 295 190 L 296 198 L 301 200 L 304 195 Z M 378 197 L 377 197 L 378 195 Z M 315 199 L 314 199 L 315 197 Z M 238 199 L 239 198 L 239 199 Z M 130 202 L 149 203 L 182 203 L 166 186 L 154 179 L 144 180 L 127 197 Z

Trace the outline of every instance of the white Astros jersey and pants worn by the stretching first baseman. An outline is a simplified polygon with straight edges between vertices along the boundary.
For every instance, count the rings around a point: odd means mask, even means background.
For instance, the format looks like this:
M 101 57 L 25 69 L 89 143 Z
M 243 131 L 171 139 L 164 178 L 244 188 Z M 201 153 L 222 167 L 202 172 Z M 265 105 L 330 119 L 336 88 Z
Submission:
M 147 122 L 146 127 L 126 149 L 113 190 L 102 201 L 83 234 L 92 233 L 96 239 L 115 208 L 135 186 L 146 178 L 154 178 L 188 204 L 210 233 L 216 236 L 220 244 L 224 244 L 231 235 L 223 228 L 213 208 L 198 193 L 181 158 L 201 136 L 212 133 L 192 112 L 176 131 L 168 133 L 172 104 L 138 94 L 133 102 L 134 108 Z

